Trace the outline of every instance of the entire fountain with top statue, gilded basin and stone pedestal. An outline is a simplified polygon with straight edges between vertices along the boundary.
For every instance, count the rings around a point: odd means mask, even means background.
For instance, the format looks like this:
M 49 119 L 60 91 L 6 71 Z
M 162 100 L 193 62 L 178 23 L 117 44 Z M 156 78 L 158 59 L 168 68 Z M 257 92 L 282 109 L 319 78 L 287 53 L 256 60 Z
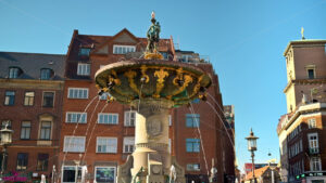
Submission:
M 173 107 L 204 97 L 211 78 L 195 65 L 163 60 L 158 52 L 160 24 L 152 13 L 143 58 L 109 64 L 96 73 L 100 92 L 136 108 L 133 155 L 117 168 L 117 183 L 185 183 L 185 171 L 168 152 Z

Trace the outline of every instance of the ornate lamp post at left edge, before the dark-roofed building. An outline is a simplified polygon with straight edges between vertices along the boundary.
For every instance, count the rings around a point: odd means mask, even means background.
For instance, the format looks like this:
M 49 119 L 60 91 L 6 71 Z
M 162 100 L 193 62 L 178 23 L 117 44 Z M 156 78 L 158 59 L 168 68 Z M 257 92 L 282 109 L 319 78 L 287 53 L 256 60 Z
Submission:
M 4 173 L 4 161 L 7 156 L 7 146 L 12 143 L 12 133 L 13 130 L 8 129 L 5 125 L 4 129 L 0 130 L 1 133 L 1 145 L 2 145 L 2 164 L 1 164 L 1 182 Z

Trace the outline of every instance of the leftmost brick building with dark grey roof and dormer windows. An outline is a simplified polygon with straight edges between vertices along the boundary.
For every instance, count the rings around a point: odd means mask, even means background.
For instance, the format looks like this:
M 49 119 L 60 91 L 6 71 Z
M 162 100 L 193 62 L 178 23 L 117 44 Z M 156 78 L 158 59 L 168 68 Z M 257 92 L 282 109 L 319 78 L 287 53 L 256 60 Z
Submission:
M 58 167 L 64 61 L 64 55 L 0 52 L 0 122 L 13 130 L 7 180 L 49 178 Z

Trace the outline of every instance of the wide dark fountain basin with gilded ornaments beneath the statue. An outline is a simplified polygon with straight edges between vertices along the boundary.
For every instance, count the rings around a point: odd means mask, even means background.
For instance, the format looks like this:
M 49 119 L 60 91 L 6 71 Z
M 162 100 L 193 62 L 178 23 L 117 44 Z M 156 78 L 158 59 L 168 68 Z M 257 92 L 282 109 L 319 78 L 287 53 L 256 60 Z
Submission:
M 129 60 L 109 64 L 96 73 L 99 89 L 116 101 L 164 99 L 177 107 L 198 97 L 211 77 L 195 65 L 164 60 Z

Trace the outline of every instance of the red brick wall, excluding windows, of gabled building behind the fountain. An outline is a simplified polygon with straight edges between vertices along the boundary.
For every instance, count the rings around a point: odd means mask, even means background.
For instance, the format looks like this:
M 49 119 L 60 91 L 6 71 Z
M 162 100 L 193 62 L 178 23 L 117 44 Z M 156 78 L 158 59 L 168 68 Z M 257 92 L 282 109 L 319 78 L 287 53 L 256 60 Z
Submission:
M 125 112 L 129 112 L 130 108 L 127 105 L 112 102 L 106 105 L 106 102 L 99 100 L 98 90 L 95 86 L 93 76 L 101 65 L 108 65 L 114 62 L 124 61 L 126 57 L 133 57 L 130 54 L 113 54 L 113 45 L 134 45 L 136 48 L 137 56 L 141 56 L 141 52 L 145 51 L 147 40 L 145 38 L 137 38 L 128 30 L 123 29 L 115 36 L 87 36 L 78 35 L 78 31 L 74 31 L 70 49 L 67 52 L 66 73 L 65 73 L 65 87 L 63 94 L 63 114 L 62 114 L 62 129 L 60 141 L 60 157 L 59 161 L 61 166 L 76 166 L 87 165 L 88 179 L 92 181 L 95 179 L 96 167 L 113 167 L 122 165 L 126 161 L 126 158 L 130 153 L 124 153 L 123 141 L 126 136 L 134 136 L 134 127 L 125 127 Z M 89 48 L 90 54 L 82 56 L 79 54 L 80 48 Z M 176 60 L 174 56 L 175 50 L 172 39 L 161 39 L 159 43 L 159 51 L 164 53 L 166 58 Z M 138 55 L 138 53 L 140 53 Z M 134 56 L 134 57 L 137 57 Z M 85 63 L 90 64 L 90 74 L 88 76 L 77 75 L 77 65 Z M 204 102 L 199 104 L 193 103 L 191 106 L 196 114 L 200 115 L 200 133 L 197 128 L 186 127 L 186 116 L 191 114 L 187 106 L 172 109 L 172 126 L 170 128 L 171 151 L 172 155 L 176 157 L 178 164 L 180 164 L 187 174 L 188 182 L 191 180 L 202 180 L 208 182 L 208 171 L 212 168 L 212 159 L 214 159 L 215 166 L 218 169 L 218 182 L 224 181 L 224 177 L 234 178 L 234 146 L 227 143 L 229 140 L 226 136 L 226 131 L 222 126 L 224 120 L 222 94 L 220 92 L 218 78 L 214 74 L 212 65 L 209 63 L 190 63 L 196 64 L 198 67 L 210 73 L 213 78 L 213 84 L 209 89 L 209 93 L 222 108 L 218 110 L 218 106 L 213 102 L 211 97 L 208 97 L 208 102 L 215 107 L 221 116 L 214 114 L 214 110 L 210 105 Z M 70 88 L 87 88 L 88 99 L 68 99 Z M 83 113 L 85 107 L 91 102 L 87 109 L 87 123 L 70 123 L 65 121 L 67 112 Z M 105 108 L 103 108 L 106 105 Z M 191 108 L 191 107 L 190 107 Z M 102 125 L 98 123 L 98 113 L 110 113 L 118 115 L 118 122 L 116 125 Z M 210 113 L 208 113 L 210 112 Z M 229 132 L 228 132 L 229 133 Z M 65 153 L 64 139 L 65 136 L 85 136 L 86 151 L 80 153 Z M 97 138 L 116 138 L 117 147 L 115 153 L 97 153 Z M 233 135 L 231 135 L 233 136 Z M 201 139 L 204 152 L 202 148 L 199 153 L 187 153 L 186 139 Z M 67 142 L 66 142 L 67 143 Z M 223 153 L 224 152 L 224 153 Z M 225 159 L 223 160 L 223 154 Z M 228 157 L 228 155 L 233 155 Z M 205 157 L 205 158 L 204 158 Z M 77 161 L 76 161 L 77 160 Z M 200 170 L 189 170 L 193 164 L 200 165 Z M 188 165 L 188 169 L 187 169 Z M 190 165 L 190 166 L 189 166 Z M 209 170 L 208 170 L 208 169 Z M 63 170 L 63 169 L 62 169 Z M 61 177 L 61 180 L 63 178 Z

